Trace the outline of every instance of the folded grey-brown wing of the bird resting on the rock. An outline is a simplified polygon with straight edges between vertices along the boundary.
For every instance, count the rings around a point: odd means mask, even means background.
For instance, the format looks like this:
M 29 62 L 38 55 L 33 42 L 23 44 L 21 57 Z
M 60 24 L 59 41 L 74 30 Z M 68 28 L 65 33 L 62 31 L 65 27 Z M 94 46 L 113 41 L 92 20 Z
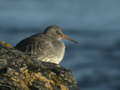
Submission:
M 18 43 L 15 48 L 42 61 L 47 60 L 47 58 L 54 59 L 56 56 L 54 46 L 45 38 L 24 39 Z

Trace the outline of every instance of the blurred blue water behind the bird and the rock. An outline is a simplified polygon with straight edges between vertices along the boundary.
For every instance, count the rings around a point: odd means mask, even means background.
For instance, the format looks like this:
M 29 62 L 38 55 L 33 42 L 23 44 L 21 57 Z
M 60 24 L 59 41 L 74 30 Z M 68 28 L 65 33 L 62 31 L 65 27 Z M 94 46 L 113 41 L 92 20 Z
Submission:
M 81 90 L 120 90 L 120 0 L 0 0 L 0 40 L 15 46 L 49 25 L 80 42 L 64 40 L 61 65 Z

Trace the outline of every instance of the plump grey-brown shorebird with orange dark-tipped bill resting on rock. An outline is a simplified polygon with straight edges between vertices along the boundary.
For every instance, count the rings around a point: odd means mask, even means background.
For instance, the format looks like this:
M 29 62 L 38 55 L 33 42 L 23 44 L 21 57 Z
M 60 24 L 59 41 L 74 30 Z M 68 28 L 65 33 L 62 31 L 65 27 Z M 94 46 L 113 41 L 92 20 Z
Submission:
M 15 48 L 38 61 L 59 64 L 65 54 L 65 44 L 62 39 L 78 43 L 64 35 L 59 26 L 51 25 L 43 33 L 34 34 L 20 41 Z

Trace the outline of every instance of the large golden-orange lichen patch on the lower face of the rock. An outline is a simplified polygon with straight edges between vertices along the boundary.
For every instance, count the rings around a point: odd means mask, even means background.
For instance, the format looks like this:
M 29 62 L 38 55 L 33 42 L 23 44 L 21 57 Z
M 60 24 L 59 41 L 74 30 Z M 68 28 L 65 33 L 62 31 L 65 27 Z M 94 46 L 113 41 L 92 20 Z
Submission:
M 62 81 L 62 78 L 54 72 L 49 73 L 49 78 L 51 79 L 48 79 L 39 71 L 30 71 L 29 69 L 21 69 L 20 72 L 17 72 L 9 68 L 8 72 L 11 73 L 4 74 L 4 76 L 10 77 L 14 86 L 23 87 L 25 90 L 30 90 L 29 86 L 34 86 L 35 81 L 44 83 L 44 87 L 47 90 L 53 90 L 53 86 L 60 87 L 60 90 L 69 90 Z

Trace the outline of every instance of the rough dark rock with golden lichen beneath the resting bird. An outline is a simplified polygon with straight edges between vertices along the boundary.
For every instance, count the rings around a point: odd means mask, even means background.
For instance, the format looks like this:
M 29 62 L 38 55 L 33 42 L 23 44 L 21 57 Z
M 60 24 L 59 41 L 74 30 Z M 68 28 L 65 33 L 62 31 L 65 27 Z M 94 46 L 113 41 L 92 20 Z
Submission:
M 71 70 L 0 47 L 0 90 L 79 90 Z

